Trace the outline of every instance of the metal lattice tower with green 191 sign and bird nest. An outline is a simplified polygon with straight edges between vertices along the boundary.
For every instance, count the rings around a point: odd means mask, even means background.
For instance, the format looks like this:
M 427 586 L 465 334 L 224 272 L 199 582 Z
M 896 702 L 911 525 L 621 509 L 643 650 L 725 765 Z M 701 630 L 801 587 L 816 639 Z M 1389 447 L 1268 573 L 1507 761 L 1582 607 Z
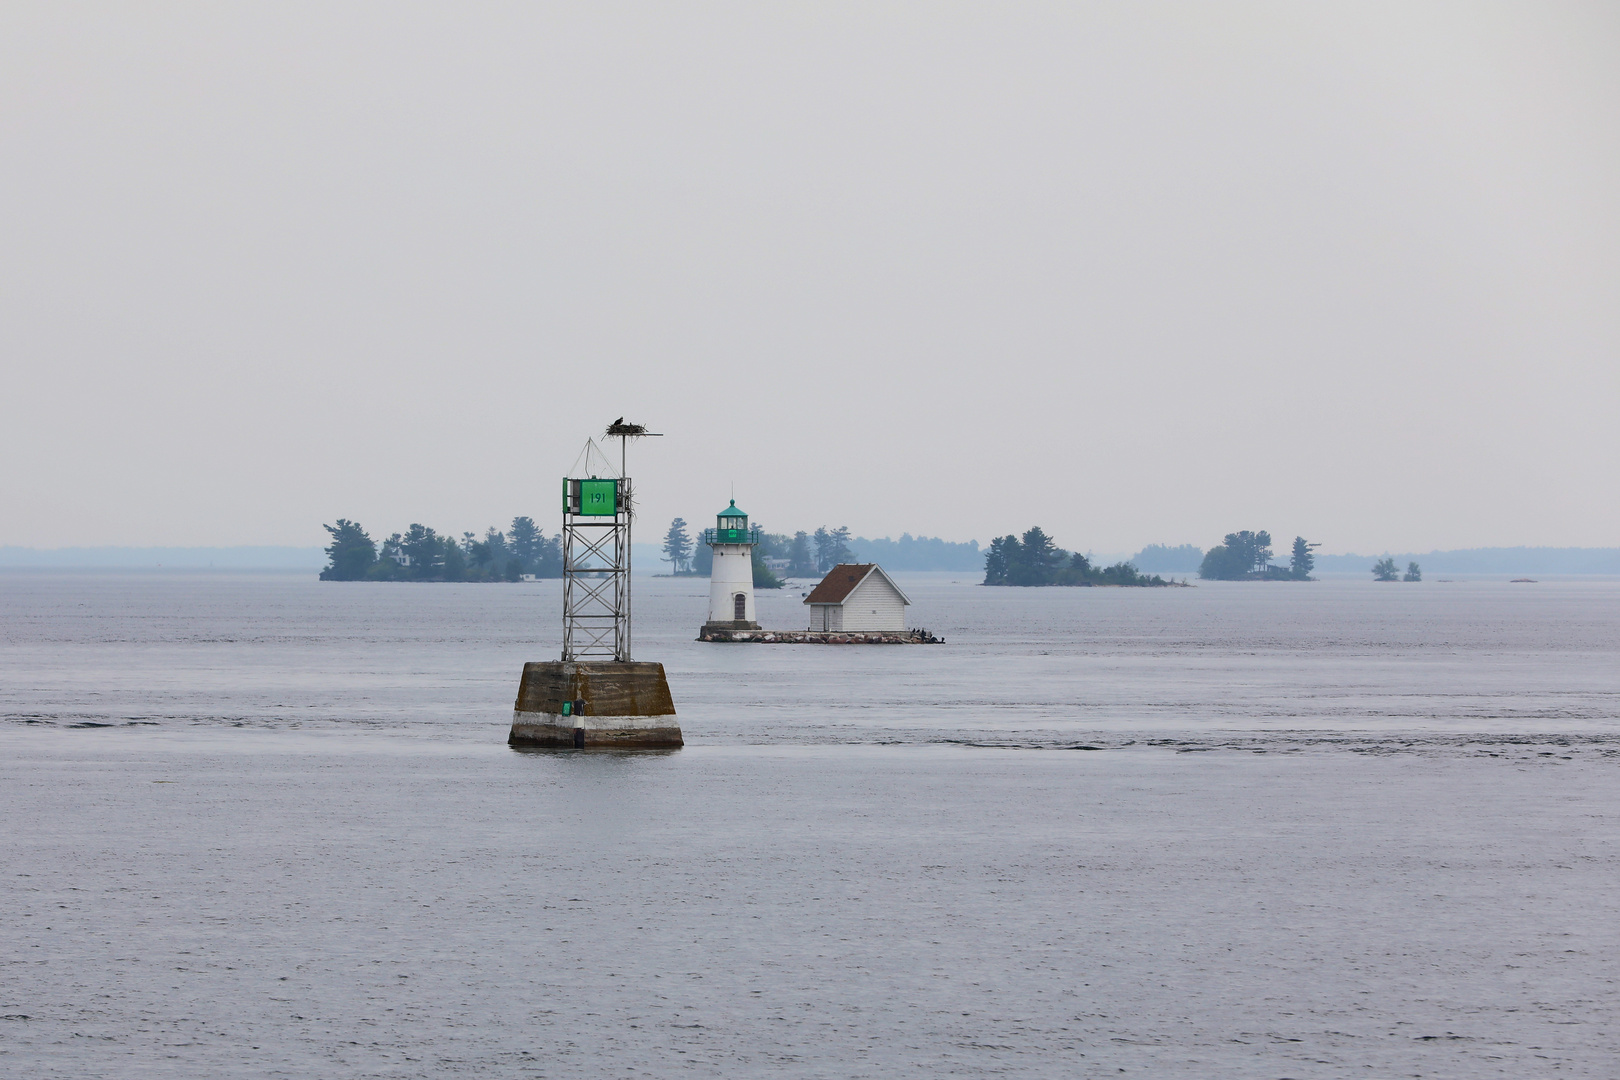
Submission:
M 577 478 L 562 481 L 562 659 L 630 661 L 630 521 L 633 499 L 625 444 L 651 436 L 622 419 L 608 427 L 619 439 L 619 474 L 585 444 Z M 583 465 L 583 468 L 580 468 Z

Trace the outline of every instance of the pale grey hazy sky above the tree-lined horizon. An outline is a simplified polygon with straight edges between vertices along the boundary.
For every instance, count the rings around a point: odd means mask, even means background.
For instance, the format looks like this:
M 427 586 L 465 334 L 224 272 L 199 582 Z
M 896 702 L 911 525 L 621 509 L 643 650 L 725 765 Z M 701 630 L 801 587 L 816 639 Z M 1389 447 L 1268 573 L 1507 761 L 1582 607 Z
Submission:
M 0 544 L 1620 544 L 1620 5 L 0 6 Z M 701 520 L 700 520 L 701 518 Z

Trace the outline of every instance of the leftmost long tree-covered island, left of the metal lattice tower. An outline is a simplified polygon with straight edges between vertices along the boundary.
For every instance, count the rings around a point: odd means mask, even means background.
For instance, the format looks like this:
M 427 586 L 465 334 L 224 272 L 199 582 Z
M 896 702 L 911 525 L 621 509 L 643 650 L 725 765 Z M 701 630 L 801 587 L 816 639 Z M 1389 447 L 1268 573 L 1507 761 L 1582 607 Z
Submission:
M 358 521 L 339 518 L 322 525 L 332 542 L 322 581 L 518 581 L 562 576 L 562 538 L 546 536 L 535 518 L 512 518 L 505 533 L 494 526 L 483 539 L 462 533 L 460 539 L 439 534 L 426 525 L 411 525 L 377 544 Z

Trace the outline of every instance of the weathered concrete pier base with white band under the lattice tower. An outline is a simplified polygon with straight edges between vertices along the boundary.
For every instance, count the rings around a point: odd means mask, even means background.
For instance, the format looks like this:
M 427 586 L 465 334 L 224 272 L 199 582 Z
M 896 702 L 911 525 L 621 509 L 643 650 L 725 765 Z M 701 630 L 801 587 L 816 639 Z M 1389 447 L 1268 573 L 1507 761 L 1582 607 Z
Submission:
M 663 664 L 531 661 L 523 665 L 507 742 L 630 750 L 680 746 L 684 740 Z

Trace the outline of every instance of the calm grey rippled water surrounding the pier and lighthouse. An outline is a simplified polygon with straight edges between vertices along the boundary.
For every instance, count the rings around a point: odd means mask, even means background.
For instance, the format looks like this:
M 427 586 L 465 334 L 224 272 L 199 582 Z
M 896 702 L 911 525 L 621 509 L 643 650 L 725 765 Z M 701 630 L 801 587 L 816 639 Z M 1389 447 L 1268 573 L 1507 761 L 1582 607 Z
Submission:
M 616 756 L 554 585 L 0 573 L 0 1074 L 1614 1075 L 1620 585 L 902 583 Z

